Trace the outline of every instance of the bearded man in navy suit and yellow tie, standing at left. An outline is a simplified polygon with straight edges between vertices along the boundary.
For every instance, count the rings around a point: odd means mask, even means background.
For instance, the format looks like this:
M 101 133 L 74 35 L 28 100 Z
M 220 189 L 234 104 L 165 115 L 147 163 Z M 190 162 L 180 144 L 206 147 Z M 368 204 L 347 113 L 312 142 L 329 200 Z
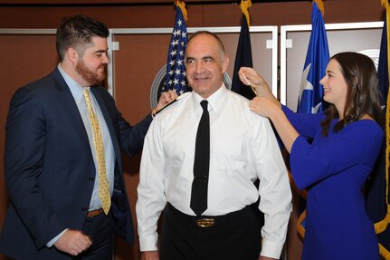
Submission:
M 113 233 L 133 243 L 121 152 L 142 149 L 151 115 L 130 126 L 100 83 L 109 63 L 109 29 L 75 15 L 57 29 L 60 63 L 14 93 L 6 121 L 5 181 L 10 197 L 0 252 L 15 259 L 112 259 Z M 99 196 L 95 132 L 100 125 L 110 207 Z M 158 111 L 176 98 L 162 93 Z M 100 159 L 103 160 L 103 159 Z M 77 255 L 77 256 L 76 256 Z

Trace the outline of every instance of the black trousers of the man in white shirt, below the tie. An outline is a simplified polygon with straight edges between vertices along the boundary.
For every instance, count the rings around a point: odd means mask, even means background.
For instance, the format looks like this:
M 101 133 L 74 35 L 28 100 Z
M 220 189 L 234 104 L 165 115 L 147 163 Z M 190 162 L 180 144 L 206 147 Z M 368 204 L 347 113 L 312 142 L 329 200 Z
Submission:
M 257 260 L 261 251 L 261 219 L 252 206 L 213 217 L 214 226 L 196 220 L 166 204 L 160 260 Z

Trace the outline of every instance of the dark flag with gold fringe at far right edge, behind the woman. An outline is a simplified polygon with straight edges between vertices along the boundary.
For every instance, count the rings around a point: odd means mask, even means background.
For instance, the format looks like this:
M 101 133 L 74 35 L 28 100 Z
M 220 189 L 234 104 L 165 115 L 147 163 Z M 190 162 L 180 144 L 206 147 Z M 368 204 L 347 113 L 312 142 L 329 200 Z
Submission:
M 389 135 L 390 135 L 390 100 L 389 89 L 389 9 L 387 0 L 382 0 L 386 7 L 385 23 L 382 31 L 382 40 L 379 53 L 378 79 L 381 96 L 381 105 L 385 114 L 385 136 L 376 166 L 366 183 L 366 211 L 375 223 L 376 235 L 379 242 L 380 254 L 390 260 L 390 197 L 389 197 Z

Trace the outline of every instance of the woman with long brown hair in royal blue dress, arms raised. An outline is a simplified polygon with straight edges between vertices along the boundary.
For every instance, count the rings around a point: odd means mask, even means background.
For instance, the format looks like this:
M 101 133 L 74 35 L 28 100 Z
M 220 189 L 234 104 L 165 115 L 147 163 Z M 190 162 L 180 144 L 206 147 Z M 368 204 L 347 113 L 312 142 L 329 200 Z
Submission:
M 379 259 L 362 192 L 384 138 L 372 60 L 360 53 L 334 55 L 320 81 L 328 110 L 317 114 L 281 105 L 252 68 L 239 75 L 258 93 L 251 110 L 272 121 L 290 152 L 292 178 L 308 191 L 302 259 Z

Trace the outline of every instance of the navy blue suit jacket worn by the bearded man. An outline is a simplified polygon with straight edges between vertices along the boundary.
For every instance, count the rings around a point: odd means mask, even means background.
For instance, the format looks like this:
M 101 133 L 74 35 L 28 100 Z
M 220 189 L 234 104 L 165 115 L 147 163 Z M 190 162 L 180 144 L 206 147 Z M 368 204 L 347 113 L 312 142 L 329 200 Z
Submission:
M 101 86 L 91 91 L 115 149 L 111 203 L 115 233 L 133 243 L 121 151 L 131 155 L 142 149 L 152 117 L 130 126 L 108 91 Z M 5 130 L 5 182 L 10 204 L 0 235 L 0 252 L 16 259 L 70 259 L 54 246 L 45 245 L 67 227 L 82 229 L 96 177 L 80 112 L 57 68 L 14 93 Z

